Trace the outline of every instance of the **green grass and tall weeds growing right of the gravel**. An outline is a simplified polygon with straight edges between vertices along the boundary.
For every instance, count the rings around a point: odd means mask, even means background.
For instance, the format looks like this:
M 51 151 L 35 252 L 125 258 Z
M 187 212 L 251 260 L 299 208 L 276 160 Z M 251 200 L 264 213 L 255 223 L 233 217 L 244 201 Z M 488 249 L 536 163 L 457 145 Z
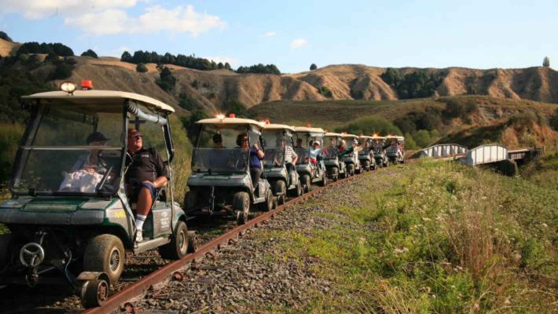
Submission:
M 283 239 L 278 259 L 311 257 L 332 282 L 308 312 L 558 310 L 556 189 L 445 163 L 372 176 L 362 206 L 315 214 L 319 228 L 264 235 Z

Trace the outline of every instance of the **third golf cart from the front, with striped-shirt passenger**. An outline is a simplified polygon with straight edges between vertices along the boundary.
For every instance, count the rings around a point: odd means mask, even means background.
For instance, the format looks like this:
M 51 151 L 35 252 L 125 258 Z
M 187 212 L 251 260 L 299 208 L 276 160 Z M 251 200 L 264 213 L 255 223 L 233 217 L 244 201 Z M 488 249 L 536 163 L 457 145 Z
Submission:
M 283 124 L 265 124 L 262 136 L 266 148 L 263 171 L 271 185 L 277 204 L 284 204 L 285 197 L 299 197 L 302 195 L 302 184 L 296 166 L 286 154 L 292 149 L 292 135 L 295 128 Z

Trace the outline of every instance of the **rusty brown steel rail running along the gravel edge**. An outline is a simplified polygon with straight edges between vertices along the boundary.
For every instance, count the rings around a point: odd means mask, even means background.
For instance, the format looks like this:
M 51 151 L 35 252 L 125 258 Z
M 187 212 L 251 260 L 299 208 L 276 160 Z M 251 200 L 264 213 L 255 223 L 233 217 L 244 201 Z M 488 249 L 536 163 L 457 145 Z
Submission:
M 345 183 L 347 181 L 352 181 L 352 180 L 354 180 L 355 178 L 357 178 L 358 176 L 360 176 L 362 174 L 364 174 L 364 173 L 349 176 L 349 178 L 344 178 L 344 179 L 340 179 L 340 180 L 335 181 L 335 182 L 331 182 L 328 185 L 326 185 L 325 187 L 319 187 L 319 188 L 312 189 L 310 192 L 308 192 L 306 194 L 302 194 L 300 197 L 290 199 L 285 204 L 280 205 L 276 209 L 272 209 L 269 212 L 264 212 L 263 214 L 258 215 L 257 217 L 255 217 L 251 220 L 248 220 L 248 222 L 246 222 L 246 224 L 239 225 L 238 227 L 235 227 L 234 229 L 230 230 L 229 232 L 220 235 L 219 237 L 211 240 L 208 243 L 205 243 L 203 246 L 196 249 L 196 251 L 194 253 L 187 254 L 185 257 L 182 257 L 178 261 L 170 262 L 170 263 L 166 264 L 165 266 L 157 269 L 157 271 L 152 272 L 151 274 L 148 274 L 146 277 L 142 278 L 140 281 L 137 281 L 137 282 L 131 284 L 130 286 L 124 288 L 123 290 L 115 293 L 113 296 L 110 296 L 107 299 L 107 301 L 103 304 L 103 306 L 90 308 L 88 310 L 85 310 L 83 313 L 86 313 L 86 314 L 93 314 L 93 313 L 95 313 L 95 314 L 96 313 L 105 314 L 105 313 L 112 312 L 114 310 L 118 310 L 119 308 L 121 308 L 123 303 L 131 300 L 134 297 L 142 295 L 143 293 L 145 293 L 145 291 L 148 288 L 150 288 L 154 284 L 166 281 L 167 279 L 169 279 L 172 276 L 173 273 L 175 273 L 176 271 L 179 271 L 182 267 L 186 266 L 186 264 L 194 261 L 194 259 L 201 258 L 205 254 L 207 254 L 207 253 L 209 253 L 209 252 L 211 252 L 215 249 L 217 249 L 217 250 L 220 249 L 220 247 L 223 244 L 229 244 L 229 241 L 231 239 L 237 238 L 238 235 L 242 234 L 242 232 L 244 232 L 245 230 L 252 229 L 253 227 L 258 227 L 258 225 L 260 223 L 263 223 L 266 220 L 270 220 L 270 219 L 275 218 L 275 215 L 277 213 L 281 212 L 282 210 L 284 210 L 285 208 L 287 208 L 287 206 L 299 203 L 302 200 L 305 200 L 305 199 L 311 197 L 312 195 L 319 194 L 319 193 L 323 192 L 324 190 L 326 190 L 328 188 L 335 187 L 335 186 L 340 185 L 342 183 Z

